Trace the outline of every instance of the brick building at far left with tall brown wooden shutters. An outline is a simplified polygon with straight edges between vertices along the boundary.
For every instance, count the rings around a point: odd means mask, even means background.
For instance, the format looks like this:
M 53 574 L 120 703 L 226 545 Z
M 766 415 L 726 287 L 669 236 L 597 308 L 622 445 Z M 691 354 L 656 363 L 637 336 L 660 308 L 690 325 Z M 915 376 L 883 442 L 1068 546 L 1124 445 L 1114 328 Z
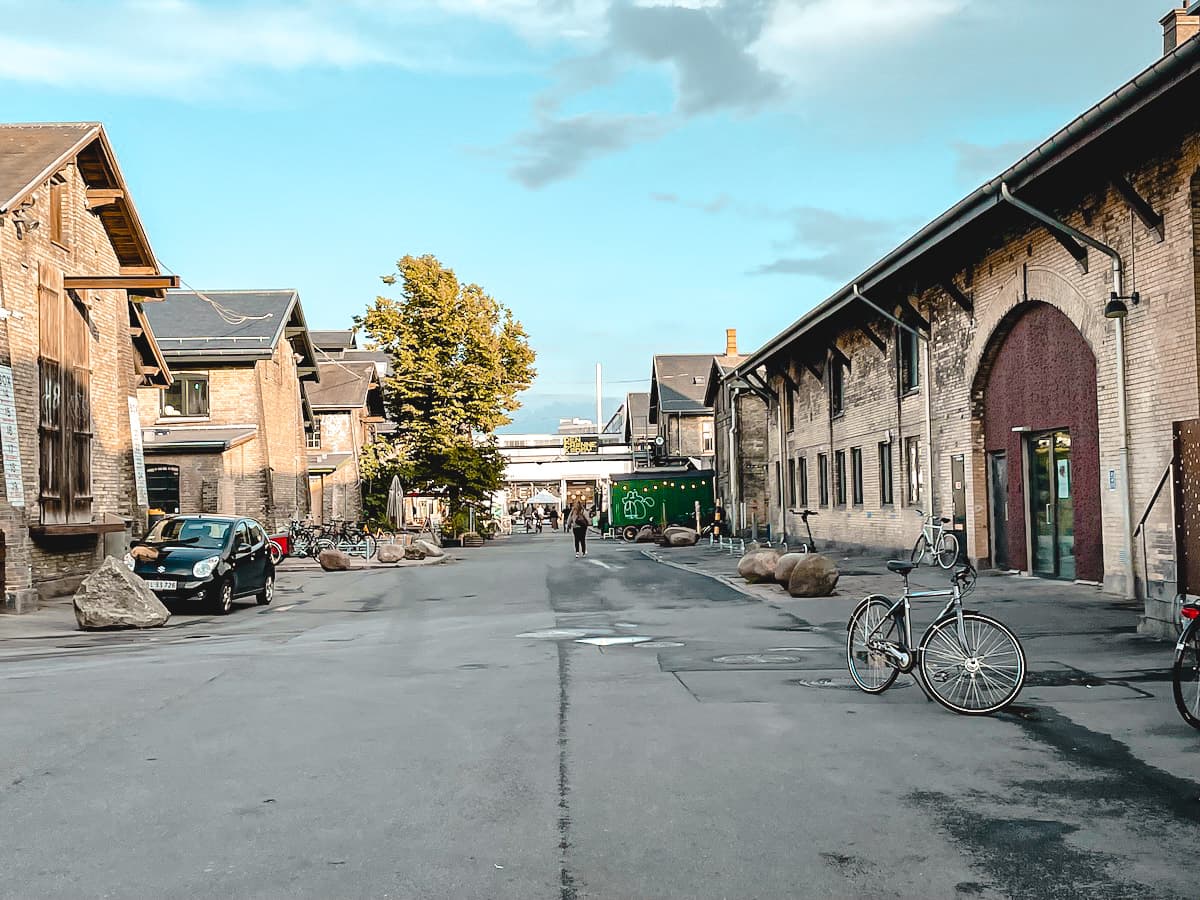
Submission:
M 101 125 L 0 125 L 4 608 L 70 593 L 103 535 L 144 527 L 137 389 L 172 380 L 143 302 L 174 283 Z

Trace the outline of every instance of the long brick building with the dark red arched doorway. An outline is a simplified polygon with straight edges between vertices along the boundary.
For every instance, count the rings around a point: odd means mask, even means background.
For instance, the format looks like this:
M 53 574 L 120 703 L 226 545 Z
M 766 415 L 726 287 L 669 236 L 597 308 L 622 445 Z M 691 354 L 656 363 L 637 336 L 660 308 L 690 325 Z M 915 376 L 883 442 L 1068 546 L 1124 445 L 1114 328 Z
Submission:
M 1172 632 L 1200 527 L 1200 40 L 1166 54 L 737 366 L 772 397 L 772 521 L 911 547 L 950 517 L 983 565 L 1102 583 Z M 1183 524 L 1187 524 L 1186 522 Z M 1200 523 L 1198 523 L 1200 524 Z M 1174 632 L 1172 632 L 1174 634 Z

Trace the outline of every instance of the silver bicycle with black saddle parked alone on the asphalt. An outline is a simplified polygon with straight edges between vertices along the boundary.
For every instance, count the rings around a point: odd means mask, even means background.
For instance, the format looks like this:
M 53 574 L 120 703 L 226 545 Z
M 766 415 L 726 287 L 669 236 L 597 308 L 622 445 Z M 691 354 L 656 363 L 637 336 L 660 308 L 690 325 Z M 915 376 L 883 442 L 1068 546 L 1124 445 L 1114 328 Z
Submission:
M 880 594 L 858 605 L 846 624 L 846 664 L 854 684 L 882 694 L 901 673 L 912 673 L 925 695 L 962 715 L 1003 709 L 1025 684 L 1025 650 L 1006 625 L 964 610 L 962 598 L 976 583 L 968 564 L 941 590 L 911 590 L 913 563 L 893 559 L 888 569 L 904 578 L 904 594 L 892 601 Z M 912 641 L 912 600 L 948 596 L 949 602 L 925 629 L 920 646 Z

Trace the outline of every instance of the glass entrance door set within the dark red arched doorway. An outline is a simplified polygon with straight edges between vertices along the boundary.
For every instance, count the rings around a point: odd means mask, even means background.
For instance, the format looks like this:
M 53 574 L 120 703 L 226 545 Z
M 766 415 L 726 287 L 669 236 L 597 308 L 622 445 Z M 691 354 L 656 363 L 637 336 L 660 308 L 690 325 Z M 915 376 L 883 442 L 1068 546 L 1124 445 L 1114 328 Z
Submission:
M 1070 432 L 1051 431 L 1030 438 L 1034 575 L 1075 577 L 1075 506 L 1070 480 Z

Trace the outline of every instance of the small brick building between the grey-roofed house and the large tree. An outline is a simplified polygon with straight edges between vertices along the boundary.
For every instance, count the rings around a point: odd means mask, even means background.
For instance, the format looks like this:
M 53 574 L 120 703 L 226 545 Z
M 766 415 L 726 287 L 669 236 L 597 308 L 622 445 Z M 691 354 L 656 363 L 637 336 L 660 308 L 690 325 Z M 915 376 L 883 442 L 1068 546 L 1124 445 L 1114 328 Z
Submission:
M 337 359 L 320 364 L 320 383 L 306 389 L 316 419 L 308 433 L 308 490 L 314 518 L 359 521 L 359 454 L 386 425 L 379 370 Z

